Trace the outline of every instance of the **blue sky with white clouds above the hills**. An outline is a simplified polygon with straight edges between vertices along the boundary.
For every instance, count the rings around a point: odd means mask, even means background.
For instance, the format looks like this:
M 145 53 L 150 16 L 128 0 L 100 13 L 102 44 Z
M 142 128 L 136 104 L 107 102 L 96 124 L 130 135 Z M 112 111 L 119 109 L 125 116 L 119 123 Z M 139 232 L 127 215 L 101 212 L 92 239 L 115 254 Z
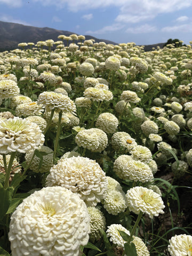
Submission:
M 189 44 L 191 13 L 192 0 L 0 0 L 1 21 L 137 45 Z

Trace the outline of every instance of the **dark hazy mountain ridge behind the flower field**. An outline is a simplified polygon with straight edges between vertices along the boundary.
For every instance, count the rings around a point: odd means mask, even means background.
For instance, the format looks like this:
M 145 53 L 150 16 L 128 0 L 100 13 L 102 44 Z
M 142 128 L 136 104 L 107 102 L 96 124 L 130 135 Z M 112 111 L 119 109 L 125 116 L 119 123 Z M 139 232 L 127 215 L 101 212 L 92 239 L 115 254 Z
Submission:
M 37 43 L 38 41 L 45 41 L 53 39 L 58 41 L 59 35 L 70 36 L 76 34 L 66 30 L 58 30 L 53 28 L 38 28 L 32 26 L 25 26 L 18 23 L 0 21 L 0 51 L 13 50 L 18 48 L 19 43 Z M 95 42 L 105 42 L 106 44 L 117 44 L 106 39 L 98 39 L 93 36 L 85 35 L 85 39 L 94 39 Z M 145 45 L 145 51 L 152 50 L 152 47 L 159 45 L 162 47 L 164 43 Z

